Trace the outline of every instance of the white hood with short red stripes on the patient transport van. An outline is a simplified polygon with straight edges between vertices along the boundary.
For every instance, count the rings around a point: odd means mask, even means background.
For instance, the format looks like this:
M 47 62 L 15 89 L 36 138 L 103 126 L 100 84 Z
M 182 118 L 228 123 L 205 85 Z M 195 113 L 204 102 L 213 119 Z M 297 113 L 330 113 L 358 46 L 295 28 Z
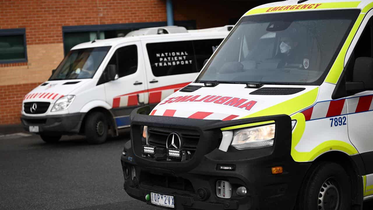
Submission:
M 23 102 L 52 102 L 69 95 L 73 90 L 88 80 L 51 80 L 35 87 L 23 98 Z

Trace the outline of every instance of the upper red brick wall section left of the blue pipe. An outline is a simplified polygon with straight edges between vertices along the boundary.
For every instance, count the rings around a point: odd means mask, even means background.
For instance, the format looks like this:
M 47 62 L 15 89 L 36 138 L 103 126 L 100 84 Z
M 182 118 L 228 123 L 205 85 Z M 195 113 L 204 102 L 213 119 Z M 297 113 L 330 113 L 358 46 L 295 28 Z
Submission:
M 62 26 L 155 21 L 164 0 L 0 0 L 0 29 L 26 28 L 28 45 L 62 43 Z

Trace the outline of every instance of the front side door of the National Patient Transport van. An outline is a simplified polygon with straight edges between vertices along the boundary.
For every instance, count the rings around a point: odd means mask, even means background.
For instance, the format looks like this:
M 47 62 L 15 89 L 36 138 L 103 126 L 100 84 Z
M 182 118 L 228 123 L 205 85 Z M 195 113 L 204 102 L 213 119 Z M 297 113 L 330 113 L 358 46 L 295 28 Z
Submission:
M 148 103 L 144 61 L 140 43 L 126 43 L 115 50 L 108 65 L 116 65 L 118 79 L 105 83 L 106 101 L 118 128 L 128 127 L 129 114 L 137 106 Z M 107 69 L 106 69 L 107 70 Z

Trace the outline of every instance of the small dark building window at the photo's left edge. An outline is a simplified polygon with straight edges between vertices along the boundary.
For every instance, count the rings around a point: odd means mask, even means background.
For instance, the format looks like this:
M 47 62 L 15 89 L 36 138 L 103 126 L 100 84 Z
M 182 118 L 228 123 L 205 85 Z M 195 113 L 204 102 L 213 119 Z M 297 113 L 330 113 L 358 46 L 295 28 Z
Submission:
M 0 61 L 25 58 L 23 35 L 0 36 Z

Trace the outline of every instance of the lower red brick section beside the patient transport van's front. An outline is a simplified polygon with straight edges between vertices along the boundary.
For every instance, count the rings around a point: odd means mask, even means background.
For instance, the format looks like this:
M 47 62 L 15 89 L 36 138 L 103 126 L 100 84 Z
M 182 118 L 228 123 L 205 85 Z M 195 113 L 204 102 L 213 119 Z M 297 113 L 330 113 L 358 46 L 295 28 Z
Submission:
M 40 83 L 0 86 L 0 124 L 21 123 L 23 97 Z

